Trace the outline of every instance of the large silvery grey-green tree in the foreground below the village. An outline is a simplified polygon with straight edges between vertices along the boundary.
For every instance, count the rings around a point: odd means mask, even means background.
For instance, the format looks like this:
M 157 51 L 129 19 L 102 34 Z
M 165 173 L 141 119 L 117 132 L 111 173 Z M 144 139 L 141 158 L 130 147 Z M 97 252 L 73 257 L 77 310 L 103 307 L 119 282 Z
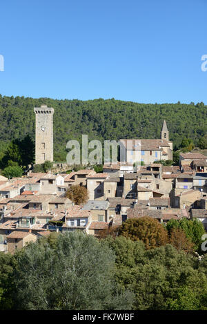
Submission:
M 133 294 L 115 283 L 115 255 L 93 236 L 59 234 L 17 255 L 17 309 L 131 309 Z

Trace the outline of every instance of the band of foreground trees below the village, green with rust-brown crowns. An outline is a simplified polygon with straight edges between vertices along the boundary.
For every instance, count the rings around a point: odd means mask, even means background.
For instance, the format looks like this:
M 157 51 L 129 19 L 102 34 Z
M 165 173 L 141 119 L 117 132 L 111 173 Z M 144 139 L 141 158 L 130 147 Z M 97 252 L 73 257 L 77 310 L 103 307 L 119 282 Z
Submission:
M 207 309 L 207 255 L 192 250 L 201 225 L 155 222 L 126 220 L 99 239 L 53 232 L 0 252 L 0 309 Z

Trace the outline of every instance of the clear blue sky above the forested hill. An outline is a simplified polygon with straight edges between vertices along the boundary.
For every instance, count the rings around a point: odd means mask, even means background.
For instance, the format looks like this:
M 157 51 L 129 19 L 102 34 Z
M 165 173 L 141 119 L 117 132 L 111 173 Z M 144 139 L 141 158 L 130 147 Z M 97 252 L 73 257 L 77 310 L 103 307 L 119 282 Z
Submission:
M 204 102 L 206 0 L 0 3 L 1 95 Z

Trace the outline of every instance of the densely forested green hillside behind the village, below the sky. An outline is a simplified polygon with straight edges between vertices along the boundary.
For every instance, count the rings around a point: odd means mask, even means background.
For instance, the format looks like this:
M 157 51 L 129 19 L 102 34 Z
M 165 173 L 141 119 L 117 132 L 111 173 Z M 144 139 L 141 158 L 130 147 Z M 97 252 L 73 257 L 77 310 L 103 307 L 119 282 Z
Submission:
M 174 148 L 186 138 L 197 144 L 207 133 L 207 106 L 199 104 L 137 104 L 115 99 L 88 101 L 49 98 L 2 97 L 0 95 L 0 151 L 12 139 L 29 134 L 34 140 L 34 106 L 55 108 L 55 160 L 66 158 L 66 142 L 81 139 L 119 140 L 119 138 L 160 137 L 165 119 Z M 1 158 L 0 154 L 0 158 Z

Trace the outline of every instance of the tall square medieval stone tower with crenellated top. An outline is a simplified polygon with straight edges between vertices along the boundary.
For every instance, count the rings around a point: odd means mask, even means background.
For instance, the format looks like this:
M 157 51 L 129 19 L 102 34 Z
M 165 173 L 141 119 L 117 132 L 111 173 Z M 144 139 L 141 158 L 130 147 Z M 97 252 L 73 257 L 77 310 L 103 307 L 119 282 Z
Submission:
M 35 163 L 53 162 L 53 108 L 41 106 L 34 108 L 35 128 Z

